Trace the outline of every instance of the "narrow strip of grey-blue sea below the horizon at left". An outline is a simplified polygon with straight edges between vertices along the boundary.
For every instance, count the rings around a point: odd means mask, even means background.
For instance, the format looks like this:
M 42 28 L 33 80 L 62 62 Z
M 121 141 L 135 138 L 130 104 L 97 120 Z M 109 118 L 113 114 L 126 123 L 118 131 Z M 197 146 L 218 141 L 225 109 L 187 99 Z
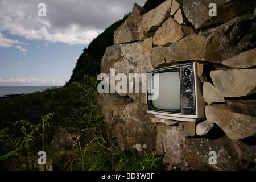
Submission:
M 55 86 L 0 86 L 0 97 L 16 94 L 43 92 Z

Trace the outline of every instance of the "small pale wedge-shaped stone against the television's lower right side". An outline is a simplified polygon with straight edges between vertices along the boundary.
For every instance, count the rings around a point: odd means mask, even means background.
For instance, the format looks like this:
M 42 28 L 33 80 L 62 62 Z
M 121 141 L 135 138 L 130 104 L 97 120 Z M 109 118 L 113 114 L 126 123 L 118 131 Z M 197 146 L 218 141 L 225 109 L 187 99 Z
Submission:
M 221 95 L 218 89 L 209 82 L 204 82 L 203 97 L 204 101 L 207 102 L 207 104 L 225 102 L 225 98 Z

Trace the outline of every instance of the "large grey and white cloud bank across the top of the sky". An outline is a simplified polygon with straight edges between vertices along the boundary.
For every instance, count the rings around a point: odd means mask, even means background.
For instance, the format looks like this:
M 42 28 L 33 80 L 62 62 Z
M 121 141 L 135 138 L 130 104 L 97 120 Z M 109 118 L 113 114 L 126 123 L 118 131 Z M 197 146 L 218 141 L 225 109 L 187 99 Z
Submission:
M 0 32 L 50 43 L 89 44 L 106 27 L 131 11 L 134 3 L 142 6 L 144 2 L 146 0 L 44 0 L 46 17 L 39 17 L 38 1 L 1 0 Z M 17 40 L 8 39 L 4 43 L 0 46 L 19 44 Z

